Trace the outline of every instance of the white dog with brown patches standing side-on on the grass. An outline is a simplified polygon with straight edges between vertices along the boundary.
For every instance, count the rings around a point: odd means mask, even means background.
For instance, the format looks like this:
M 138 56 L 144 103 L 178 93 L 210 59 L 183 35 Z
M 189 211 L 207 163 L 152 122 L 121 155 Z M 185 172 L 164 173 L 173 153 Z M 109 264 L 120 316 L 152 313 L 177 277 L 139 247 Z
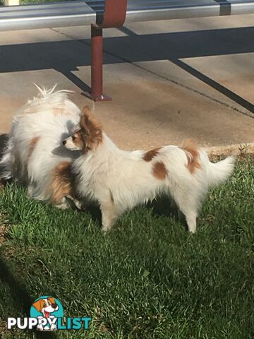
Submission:
M 126 210 L 167 194 L 185 215 L 188 230 L 195 233 L 208 189 L 222 184 L 234 169 L 234 157 L 212 163 L 205 150 L 191 143 L 148 152 L 121 150 L 88 107 L 83 108 L 80 126 L 63 145 L 82 152 L 71 165 L 75 187 L 79 198 L 99 203 L 104 231 Z

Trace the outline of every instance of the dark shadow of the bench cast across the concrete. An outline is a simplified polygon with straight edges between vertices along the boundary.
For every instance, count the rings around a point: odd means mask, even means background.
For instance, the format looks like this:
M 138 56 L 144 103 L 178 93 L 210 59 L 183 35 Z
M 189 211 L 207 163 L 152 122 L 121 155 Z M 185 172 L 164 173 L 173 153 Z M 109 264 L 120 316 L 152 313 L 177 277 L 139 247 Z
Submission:
M 254 52 L 254 27 L 149 35 L 135 35 L 124 27 L 121 30 L 126 32 L 126 37 L 104 39 L 104 50 L 107 52 L 104 54 L 104 64 L 168 59 L 214 90 L 254 112 L 250 102 L 179 60 Z M 0 73 L 55 69 L 87 92 L 89 86 L 72 73 L 79 66 L 90 66 L 90 40 L 1 46 Z

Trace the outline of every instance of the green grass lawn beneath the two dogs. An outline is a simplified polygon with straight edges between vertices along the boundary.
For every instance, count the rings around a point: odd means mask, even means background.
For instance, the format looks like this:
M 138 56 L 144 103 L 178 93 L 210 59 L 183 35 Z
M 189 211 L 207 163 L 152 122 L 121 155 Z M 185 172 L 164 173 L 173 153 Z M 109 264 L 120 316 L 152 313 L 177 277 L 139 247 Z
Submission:
M 253 197 L 248 156 L 210 192 L 195 235 L 155 206 L 126 213 L 104 236 L 93 214 L 44 206 L 8 186 L 0 338 L 253 338 Z M 60 299 L 66 316 L 92 316 L 89 331 L 4 329 L 41 295 Z

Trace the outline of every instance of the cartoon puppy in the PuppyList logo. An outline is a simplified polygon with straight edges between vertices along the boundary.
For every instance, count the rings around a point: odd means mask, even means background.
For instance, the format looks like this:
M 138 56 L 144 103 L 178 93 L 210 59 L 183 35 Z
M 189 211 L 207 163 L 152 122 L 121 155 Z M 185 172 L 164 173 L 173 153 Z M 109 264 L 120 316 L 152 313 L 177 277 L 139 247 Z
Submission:
M 56 330 L 57 326 L 56 323 L 54 322 L 56 316 L 54 316 L 53 313 L 59 310 L 59 305 L 56 304 L 56 299 L 54 297 L 41 297 L 32 304 L 32 307 L 35 307 L 36 311 L 42 314 L 37 316 L 38 320 L 43 318 L 51 320 L 50 323 L 47 324 L 46 326 L 43 326 L 42 323 L 38 323 L 37 330 L 40 331 Z

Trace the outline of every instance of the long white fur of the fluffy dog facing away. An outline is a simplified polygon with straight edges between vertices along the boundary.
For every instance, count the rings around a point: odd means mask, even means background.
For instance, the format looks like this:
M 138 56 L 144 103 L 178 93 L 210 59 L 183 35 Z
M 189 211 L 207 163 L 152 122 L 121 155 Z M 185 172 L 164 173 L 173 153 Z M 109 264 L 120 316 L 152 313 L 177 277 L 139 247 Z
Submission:
M 29 100 L 13 117 L 4 156 L 0 161 L 1 178 L 14 178 L 28 186 L 35 199 L 48 201 L 52 171 L 60 162 L 73 161 L 77 153 L 66 150 L 61 142 L 80 121 L 80 109 L 68 99 L 66 90 L 54 92 L 38 88 L 37 97 Z M 30 157 L 32 138 L 39 137 Z

